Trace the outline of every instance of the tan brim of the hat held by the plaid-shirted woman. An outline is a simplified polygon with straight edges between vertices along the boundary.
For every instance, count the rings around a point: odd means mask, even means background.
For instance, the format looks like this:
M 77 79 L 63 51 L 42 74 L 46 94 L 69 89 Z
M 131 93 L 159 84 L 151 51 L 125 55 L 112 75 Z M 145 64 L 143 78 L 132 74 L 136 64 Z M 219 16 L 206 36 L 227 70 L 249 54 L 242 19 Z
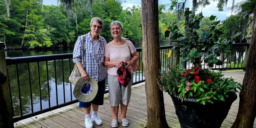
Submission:
M 86 81 L 84 81 L 84 79 L 82 77 L 78 80 L 78 82 L 75 85 L 73 94 L 74 94 L 75 98 L 78 101 L 90 102 L 95 98 L 95 96 L 98 92 L 98 83 L 97 83 L 97 81 L 94 78 L 91 78 L 91 77 L 88 77 L 88 79 L 89 79 L 88 83 L 91 84 L 91 88 L 92 88 L 91 93 L 88 94 L 88 95 L 84 95 L 80 92 L 81 86 L 83 86 L 84 83 L 87 83 Z

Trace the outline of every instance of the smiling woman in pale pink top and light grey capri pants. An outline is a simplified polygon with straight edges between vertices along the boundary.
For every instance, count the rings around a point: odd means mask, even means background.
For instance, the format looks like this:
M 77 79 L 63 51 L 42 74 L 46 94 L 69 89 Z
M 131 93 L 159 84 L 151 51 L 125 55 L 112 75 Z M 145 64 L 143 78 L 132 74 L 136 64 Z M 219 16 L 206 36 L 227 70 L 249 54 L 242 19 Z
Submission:
M 119 105 L 121 109 L 122 126 L 129 125 L 129 122 L 126 119 L 126 112 L 130 102 L 131 86 L 133 84 L 132 66 L 133 63 L 137 62 L 139 59 L 139 55 L 131 41 L 121 38 L 123 27 L 120 21 L 113 21 L 110 24 L 110 30 L 114 39 L 106 45 L 104 66 L 107 67 L 108 94 L 113 115 L 111 126 L 115 128 L 118 127 Z M 133 56 L 132 59 L 131 56 Z M 123 62 L 125 62 L 125 66 L 123 65 Z M 131 71 L 131 79 L 126 87 L 122 86 L 117 77 L 117 70 L 120 68 L 129 68 L 129 71 Z

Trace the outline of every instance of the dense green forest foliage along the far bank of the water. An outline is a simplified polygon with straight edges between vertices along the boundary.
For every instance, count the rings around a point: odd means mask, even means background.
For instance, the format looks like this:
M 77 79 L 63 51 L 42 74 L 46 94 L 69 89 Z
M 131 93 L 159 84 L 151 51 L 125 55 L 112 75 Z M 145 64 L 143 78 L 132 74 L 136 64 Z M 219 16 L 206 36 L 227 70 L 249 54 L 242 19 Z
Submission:
M 92 17 L 103 20 L 104 28 L 100 35 L 107 42 L 112 40 L 109 26 L 114 20 L 120 21 L 123 25 L 122 37 L 133 43 L 142 42 L 139 6 L 124 10 L 120 1 L 94 0 L 91 15 L 88 0 L 73 1 L 70 11 L 62 1 L 56 6 L 43 5 L 42 0 L 10 0 L 9 5 L 10 16 L 5 0 L 0 0 L 0 41 L 5 42 L 8 48 L 73 47 L 79 35 L 90 31 Z M 159 5 L 158 8 L 159 36 L 161 41 L 165 41 L 168 38 L 165 38 L 163 30 L 166 26 L 177 24 L 176 13 L 165 5 Z M 203 19 L 201 28 L 211 24 L 207 18 L 209 17 Z M 232 20 L 229 22 L 232 24 Z M 179 24 L 184 24 L 184 19 L 181 19 Z M 230 26 L 226 27 L 224 29 Z M 198 33 L 201 38 L 205 38 L 209 31 L 201 29 Z

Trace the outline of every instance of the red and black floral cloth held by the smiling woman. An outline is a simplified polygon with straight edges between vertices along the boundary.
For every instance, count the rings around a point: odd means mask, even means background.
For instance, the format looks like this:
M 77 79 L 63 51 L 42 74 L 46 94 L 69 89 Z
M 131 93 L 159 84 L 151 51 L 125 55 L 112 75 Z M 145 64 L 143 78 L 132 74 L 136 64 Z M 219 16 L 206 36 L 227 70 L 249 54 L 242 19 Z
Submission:
M 127 65 L 127 62 L 123 62 L 123 67 L 117 69 L 117 78 L 123 87 L 126 87 L 128 83 L 131 81 L 132 75 L 131 75 L 131 69 L 125 68 Z

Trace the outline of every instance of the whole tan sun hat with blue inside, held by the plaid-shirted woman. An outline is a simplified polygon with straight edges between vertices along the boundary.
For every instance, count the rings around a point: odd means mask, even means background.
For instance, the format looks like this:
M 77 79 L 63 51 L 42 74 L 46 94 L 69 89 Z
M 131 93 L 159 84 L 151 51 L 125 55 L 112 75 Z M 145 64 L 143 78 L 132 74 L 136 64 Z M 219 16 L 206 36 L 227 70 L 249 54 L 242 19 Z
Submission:
M 98 83 L 94 78 L 88 77 L 88 82 L 81 77 L 75 84 L 73 94 L 78 101 L 90 102 L 98 92 Z

